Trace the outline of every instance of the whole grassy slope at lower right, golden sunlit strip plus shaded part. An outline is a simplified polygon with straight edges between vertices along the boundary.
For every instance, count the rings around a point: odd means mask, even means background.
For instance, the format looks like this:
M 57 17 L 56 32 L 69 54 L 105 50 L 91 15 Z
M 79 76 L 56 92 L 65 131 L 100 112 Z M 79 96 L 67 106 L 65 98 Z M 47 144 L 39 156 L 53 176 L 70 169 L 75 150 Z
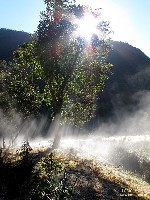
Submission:
M 63 154 L 59 159 L 62 157 Z M 150 185 L 133 173 L 93 159 L 65 155 L 64 162 L 67 159 L 70 171 L 75 172 L 78 180 L 75 195 L 81 195 L 74 199 L 150 199 Z

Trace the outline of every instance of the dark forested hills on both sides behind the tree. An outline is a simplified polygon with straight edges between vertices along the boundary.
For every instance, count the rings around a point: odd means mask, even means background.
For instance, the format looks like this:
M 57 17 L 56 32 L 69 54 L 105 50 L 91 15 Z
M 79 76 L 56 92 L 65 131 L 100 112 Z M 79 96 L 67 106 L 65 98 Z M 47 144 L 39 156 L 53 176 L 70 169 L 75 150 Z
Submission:
M 0 60 L 11 60 L 18 45 L 31 41 L 28 33 L 0 29 Z M 112 42 L 108 61 L 114 65 L 103 93 L 99 94 L 97 118 L 108 119 L 116 110 L 133 111 L 139 94 L 150 91 L 150 58 L 127 43 Z

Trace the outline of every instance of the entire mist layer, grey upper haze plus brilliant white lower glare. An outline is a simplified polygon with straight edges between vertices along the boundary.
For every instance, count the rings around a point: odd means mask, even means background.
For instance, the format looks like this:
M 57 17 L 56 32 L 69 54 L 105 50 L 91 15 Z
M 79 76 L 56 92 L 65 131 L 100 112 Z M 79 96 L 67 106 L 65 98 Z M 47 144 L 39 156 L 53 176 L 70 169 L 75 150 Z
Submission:
M 0 111 L 0 145 L 16 148 L 29 141 L 31 147 L 49 148 L 57 135 L 60 140 L 57 148 L 64 152 L 142 174 L 139 160 L 148 160 L 150 168 L 150 92 L 136 93 L 134 98 L 139 100 L 134 112 L 116 108 L 117 120 L 103 122 L 94 131 L 60 125 L 59 116 L 50 124 L 44 116 L 24 120 L 15 111 L 12 111 L 11 117 Z M 150 177 L 147 179 L 150 181 Z

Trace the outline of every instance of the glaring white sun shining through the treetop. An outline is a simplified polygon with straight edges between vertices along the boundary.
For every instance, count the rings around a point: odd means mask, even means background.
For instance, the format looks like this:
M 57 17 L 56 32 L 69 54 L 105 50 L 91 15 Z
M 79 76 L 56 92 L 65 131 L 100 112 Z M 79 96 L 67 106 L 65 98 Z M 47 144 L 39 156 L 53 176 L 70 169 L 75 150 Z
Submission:
M 91 13 L 86 13 L 82 18 L 76 19 L 74 23 L 77 26 L 74 32 L 75 36 L 81 36 L 86 40 L 90 40 L 93 34 L 99 35 L 99 19 Z

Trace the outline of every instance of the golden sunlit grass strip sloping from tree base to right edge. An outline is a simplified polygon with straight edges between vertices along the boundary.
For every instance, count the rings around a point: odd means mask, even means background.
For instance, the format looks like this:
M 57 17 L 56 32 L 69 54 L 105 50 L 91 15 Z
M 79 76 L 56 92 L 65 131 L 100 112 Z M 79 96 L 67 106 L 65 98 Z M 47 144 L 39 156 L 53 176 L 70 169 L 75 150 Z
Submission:
M 56 151 L 56 157 L 64 162 L 68 168 L 87 167 L 89 171 L 96 173 L 100 179 L 118 184 L 122 188 L 122 195 L 125 193 L 124 195 L 150 198 L 150 184 L 129 171 L 100 160 L 86 159 L 82 156 L 76 157 L 62 151 Z

